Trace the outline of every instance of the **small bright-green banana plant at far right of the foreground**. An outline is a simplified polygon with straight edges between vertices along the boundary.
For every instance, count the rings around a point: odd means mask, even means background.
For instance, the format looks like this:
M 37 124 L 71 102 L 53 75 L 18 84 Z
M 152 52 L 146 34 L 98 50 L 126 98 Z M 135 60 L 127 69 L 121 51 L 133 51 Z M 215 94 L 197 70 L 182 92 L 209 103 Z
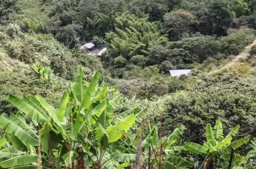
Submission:
M 220 119 L 212 129 L 210 124 L 206 125 L 206 140 L 203 145 L 186 141 L 184 148 L 192 154 L 199 154 L 204 157 L 201 167 L 207 168 L 213 165 L 214 168 L 236 168 L 246 163 L 246 158 L 242 157 L 236 150 L 249 141 L 249 138 L 233 141 L 240 126 L 235 126 L 226 137 L 223 137 L 223 127 Z

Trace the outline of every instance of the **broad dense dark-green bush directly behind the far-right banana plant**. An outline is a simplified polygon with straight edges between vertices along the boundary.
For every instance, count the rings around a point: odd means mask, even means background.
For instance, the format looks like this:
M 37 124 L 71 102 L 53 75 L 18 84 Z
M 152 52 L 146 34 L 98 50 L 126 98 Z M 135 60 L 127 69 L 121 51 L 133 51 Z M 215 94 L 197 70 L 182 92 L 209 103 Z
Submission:
M 159 116 L 164 120 L 165 134 L 183 124 L 187 128 L 184 140 L 203 143 L 205 124 L 214 124 L 220 117 L 223 127 L 228 130 L 234 124 L 241 126 L 239 138 L 255 136 L 254 76 L 241 79 L 239 74 L 202 75 L 191 81 L 197 82 L 195 87 L 167 96 L 162 101 L 165 106 L 162 105 L 163 114 Z

